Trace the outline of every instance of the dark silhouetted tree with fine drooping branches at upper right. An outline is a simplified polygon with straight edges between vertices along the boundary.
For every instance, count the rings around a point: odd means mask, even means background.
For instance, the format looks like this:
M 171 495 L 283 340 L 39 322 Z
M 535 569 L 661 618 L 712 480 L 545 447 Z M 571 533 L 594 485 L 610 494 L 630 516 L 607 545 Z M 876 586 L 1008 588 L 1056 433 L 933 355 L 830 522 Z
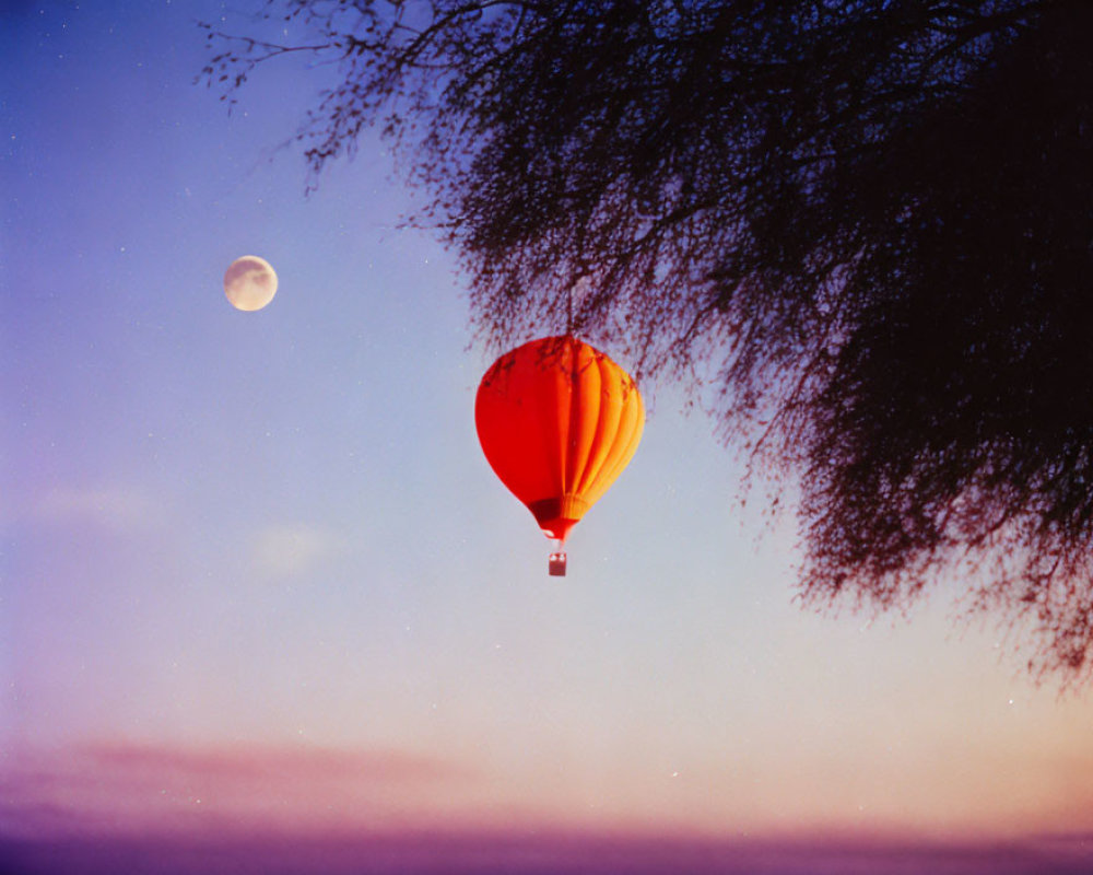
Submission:
M 940 571 L 1093 654 L 1093 3 L 281 0 L 210 27 L 235 100 L 341 65 L 313 171 L 378 124 L 507 342 L 566 324 L 799 475 L 807 597 Z M 219 54 L 216 54 L 219 52 Z

